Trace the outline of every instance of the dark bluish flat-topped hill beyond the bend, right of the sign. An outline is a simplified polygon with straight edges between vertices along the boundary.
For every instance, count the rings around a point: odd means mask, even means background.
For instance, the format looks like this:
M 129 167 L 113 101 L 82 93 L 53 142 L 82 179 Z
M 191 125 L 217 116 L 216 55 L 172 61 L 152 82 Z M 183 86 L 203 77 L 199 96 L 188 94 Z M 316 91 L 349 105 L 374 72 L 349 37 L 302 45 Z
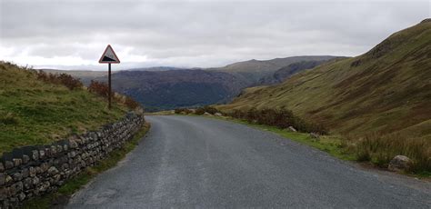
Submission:
M 133 96 L 148 111 L 226 102 L 246 86 L 234 75 L 206 70 L 121 71 L 113 75 L 115 91 Z

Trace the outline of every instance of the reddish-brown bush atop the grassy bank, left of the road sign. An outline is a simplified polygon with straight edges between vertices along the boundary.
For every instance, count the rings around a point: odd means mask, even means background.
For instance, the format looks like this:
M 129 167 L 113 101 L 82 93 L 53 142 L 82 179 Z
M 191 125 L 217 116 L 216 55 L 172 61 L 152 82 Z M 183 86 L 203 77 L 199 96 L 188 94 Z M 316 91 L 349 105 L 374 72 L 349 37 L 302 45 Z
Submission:
M 67 74 L 46 74 L 44 71 L 36 72 L 38 80 L 55 85 L 65 85 L 70 90 L 78 89 L 83 86 L 79 79 Z

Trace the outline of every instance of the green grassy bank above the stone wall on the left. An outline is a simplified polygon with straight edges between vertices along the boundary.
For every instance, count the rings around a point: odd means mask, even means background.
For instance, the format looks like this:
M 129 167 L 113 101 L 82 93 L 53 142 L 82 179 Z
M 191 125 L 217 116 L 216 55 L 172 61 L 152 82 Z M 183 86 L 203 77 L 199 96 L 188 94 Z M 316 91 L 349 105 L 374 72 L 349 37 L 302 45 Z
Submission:
M 83 88 L 48 84 L 33 71 L 0 62 L 0 154 L 96 129 L 126 111 L 120 104 L 109 111 L 105 99 Z

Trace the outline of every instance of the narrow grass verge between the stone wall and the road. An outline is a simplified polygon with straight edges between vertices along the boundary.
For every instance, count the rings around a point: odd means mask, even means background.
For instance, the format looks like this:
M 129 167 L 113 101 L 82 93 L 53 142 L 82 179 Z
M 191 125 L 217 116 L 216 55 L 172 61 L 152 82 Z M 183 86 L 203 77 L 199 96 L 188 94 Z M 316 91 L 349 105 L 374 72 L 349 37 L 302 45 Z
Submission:
M 97 174 L 115 167 L 119 161 L 125 158 L 126 154 L 134 150 L 135 146 L 139 144 L 149 128 L 150 124 L 145 124 L 141 130 L 135 134 L 133 139 L 125 142 L 122 148 L 112 151 L 104 160 L 98 162 L 95 166 L 87 168 L 82 174 L 78 174 L 75 178 L 65 182 L 56 193 L 45 194 L 42 197 L 37 197 L 37 199 L 29 200 L 25 202 L 23 208 L 45 209 L 52 208 L 55 205 L 67 204 L 72 194 L 83 188 L 85 184 L 89 183 Z

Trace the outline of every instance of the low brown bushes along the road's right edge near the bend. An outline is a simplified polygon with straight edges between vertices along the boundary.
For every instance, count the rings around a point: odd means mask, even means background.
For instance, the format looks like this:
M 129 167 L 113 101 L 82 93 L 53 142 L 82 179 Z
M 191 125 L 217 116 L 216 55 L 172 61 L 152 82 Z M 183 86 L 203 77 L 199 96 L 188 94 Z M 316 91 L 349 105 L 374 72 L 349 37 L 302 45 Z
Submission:
M 267 124 L 278 128 L 293 126 L 300 132 L 327 134 L 327 130 L 323 125 L 306 123 L 306 121 L 285 108 L 259 110 L 252 108 L 246 112 L 234 110 L 232 113 L 227 115 L 238 119 L 244 119 L 249 123 Z

